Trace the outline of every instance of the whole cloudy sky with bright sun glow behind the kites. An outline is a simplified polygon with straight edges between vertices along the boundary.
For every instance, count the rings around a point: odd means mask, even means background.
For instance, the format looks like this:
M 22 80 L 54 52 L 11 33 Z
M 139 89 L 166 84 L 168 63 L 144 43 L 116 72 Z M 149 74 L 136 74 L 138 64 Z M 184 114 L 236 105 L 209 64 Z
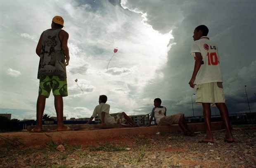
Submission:
M 248 110 L 244 85 L 251 110 L 256 111 L 255 8 L 254 0 L 4 0 L 0 113 L 36 118 L 35 50 L 55 15 L 63 16 L 69 33 L 69 96 L 64 98 L 68 118 L 90 117 L 101 94 L 108 96 L 111 112 L 146 114 L 160 97 L 168 115 L 192 115 L 190 47 L 200 24 L 209 27 L 209 37 L 218 44 L 229 112 Z M 107 70 L 115 47 L 119 51 Z M 201 115 L 201 106 L 194 107 Z M 52 94 L 45 113 L 56 116 Z

